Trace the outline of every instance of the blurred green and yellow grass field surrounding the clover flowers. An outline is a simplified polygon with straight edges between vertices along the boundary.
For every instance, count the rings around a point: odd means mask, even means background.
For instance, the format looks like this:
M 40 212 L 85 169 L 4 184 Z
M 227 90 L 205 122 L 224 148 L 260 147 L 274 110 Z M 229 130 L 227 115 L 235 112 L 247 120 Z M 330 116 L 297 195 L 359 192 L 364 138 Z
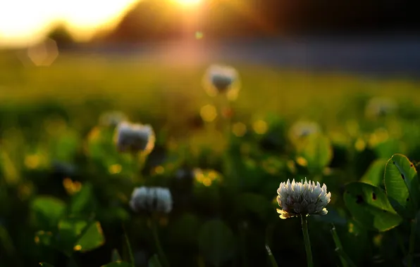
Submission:
M 394 154 L 420 160 L 419 82 L 232 65 L 240 92 L 223 119 L 225 102 L 203 89 L 208 65 L 63 54 L 35 67 L 2 52 L 0 266 L 132 266 L 129 247 L 135 266 L 274 266 L 266 245 L 278 266 L 304 266 L 300 220 L 279 219 L 275 200 L 280 182 L 304 177 L 332 194 L 326 216 L 308 217 L 315 266 L 417 261 L 416 205 L 386 208 L 383 181 L 394 181 L 384 174 Z M 374 98 L 397 108 L 379 114 Z M 99 124 L 110 110 L 153 126 L 145 159 L 116 151 L 114 129 Z M 302 120 L 321 132 L 292 132 Z M 171 213 L 135 214 L 128 202 L 140 185 L 169 188 Z M 386 216 L 350 204 L 357 190 L 383 194 Z

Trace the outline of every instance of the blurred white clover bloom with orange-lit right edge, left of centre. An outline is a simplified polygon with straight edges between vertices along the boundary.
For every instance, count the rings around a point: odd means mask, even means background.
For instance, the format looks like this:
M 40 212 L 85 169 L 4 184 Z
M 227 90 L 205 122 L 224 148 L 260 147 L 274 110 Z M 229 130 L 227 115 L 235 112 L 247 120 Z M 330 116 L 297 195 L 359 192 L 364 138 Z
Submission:
M 154 148 L 156 137 L 149 124 L 130 124 L 121 122 L 116 128 L 115 141 L 121 152 L 144 152 L 149 154 Z

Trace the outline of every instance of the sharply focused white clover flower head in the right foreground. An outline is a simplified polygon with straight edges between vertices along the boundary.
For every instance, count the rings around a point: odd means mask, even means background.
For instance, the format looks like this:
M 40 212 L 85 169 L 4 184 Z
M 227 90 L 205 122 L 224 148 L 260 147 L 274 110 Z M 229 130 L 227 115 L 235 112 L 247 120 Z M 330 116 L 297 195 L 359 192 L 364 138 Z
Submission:
M 277 202 L 281 209 L 277 209 L 281 219 L 288 219 L 293 216 L 307 216 L 308 214 L 326 215 L 326 205 L 331 201 L 331 193 L 327 193 L 325 184 L 319 182 L 295 183 L 293 179 L 280 183 L 277 190 Z

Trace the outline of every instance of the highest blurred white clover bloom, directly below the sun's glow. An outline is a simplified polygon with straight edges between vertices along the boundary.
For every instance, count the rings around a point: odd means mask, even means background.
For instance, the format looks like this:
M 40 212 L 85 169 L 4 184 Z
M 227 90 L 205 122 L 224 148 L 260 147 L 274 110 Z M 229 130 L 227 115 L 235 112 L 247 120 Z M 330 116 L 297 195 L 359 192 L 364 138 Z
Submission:
M 228 98 L 233 100 L 240 89 L 239 75 L 230 66 L 211 65 L 206 71 L 204 82 L 204 88 L 210 96 L 226 93 Z

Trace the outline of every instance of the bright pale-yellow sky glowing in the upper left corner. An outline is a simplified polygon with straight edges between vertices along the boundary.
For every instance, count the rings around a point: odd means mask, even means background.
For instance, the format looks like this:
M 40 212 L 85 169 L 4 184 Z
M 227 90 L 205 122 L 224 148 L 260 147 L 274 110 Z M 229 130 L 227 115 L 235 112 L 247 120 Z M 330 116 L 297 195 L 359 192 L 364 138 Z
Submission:
M 116 25 L 139 0 L 2 0 L 0 46 L 25 46 L 42 39 L 54 23 L 62 21 L 80 41 L 97 28 Z M 180 0 L 178 0 L 180 1 Z

